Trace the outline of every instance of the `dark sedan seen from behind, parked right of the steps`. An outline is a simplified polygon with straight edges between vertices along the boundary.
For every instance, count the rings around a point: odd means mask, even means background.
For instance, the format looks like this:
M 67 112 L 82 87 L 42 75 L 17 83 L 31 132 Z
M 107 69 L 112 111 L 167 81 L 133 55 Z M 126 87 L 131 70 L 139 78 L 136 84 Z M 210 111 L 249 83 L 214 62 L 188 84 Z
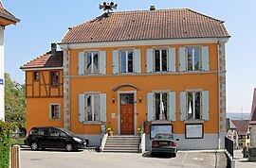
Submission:
M 177 141 L 179 140 L 174 140 L 174 134 L 172 133 L 157 133 L 151 144 L 151 155 L 166 153 L 176 157 Z

